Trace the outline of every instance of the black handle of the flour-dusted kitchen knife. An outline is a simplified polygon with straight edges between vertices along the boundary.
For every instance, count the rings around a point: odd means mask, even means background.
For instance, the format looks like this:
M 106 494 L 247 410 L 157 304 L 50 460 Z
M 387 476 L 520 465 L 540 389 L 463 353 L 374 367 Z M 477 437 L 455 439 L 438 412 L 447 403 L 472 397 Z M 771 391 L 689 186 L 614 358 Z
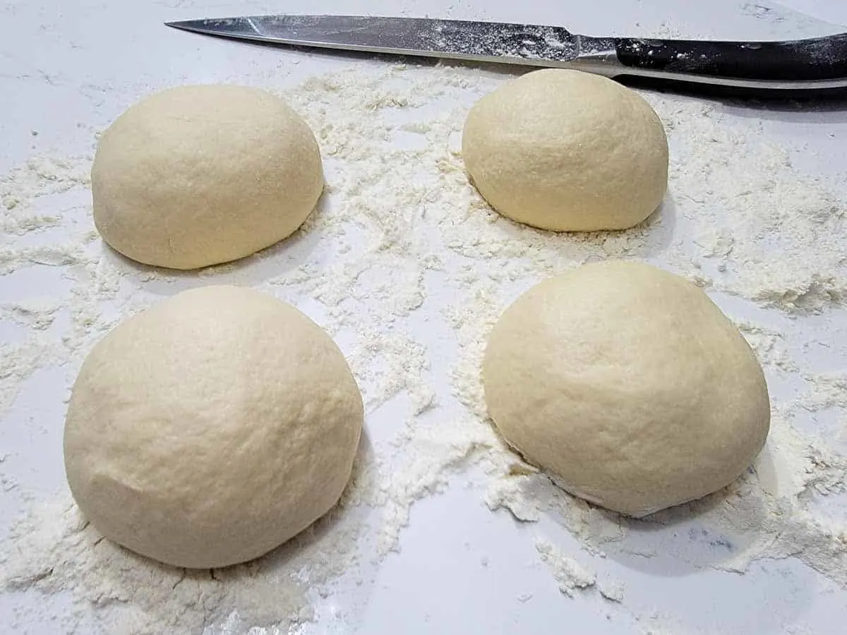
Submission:
M 617 59 L 633 69 L 739 80 L 831 80 L 847 76 L 847 33 L 795 41 L 616 38 Z

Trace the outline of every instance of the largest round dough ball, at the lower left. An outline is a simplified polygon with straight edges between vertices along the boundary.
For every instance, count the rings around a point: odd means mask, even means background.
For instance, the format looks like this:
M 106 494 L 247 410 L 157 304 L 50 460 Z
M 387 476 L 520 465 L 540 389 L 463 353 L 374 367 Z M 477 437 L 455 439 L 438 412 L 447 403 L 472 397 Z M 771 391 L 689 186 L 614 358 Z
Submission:
M 107 538 L 169 565 L 227 566 L 335 505 L 362 420 L 317 324 L 257 291 L 203 287 L 94 347 L 70 399 L 65 471 Z

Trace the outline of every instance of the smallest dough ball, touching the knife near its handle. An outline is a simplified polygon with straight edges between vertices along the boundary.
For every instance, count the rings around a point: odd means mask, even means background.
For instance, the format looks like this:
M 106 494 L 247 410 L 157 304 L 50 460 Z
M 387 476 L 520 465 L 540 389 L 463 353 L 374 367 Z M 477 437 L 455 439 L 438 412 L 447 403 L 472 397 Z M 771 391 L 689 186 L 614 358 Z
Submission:
M 541 229 L 626 229 L 667 190 L 667 138 L 650 104 L 576 70 L 534 71 L 480 99 L 462 156 L 491 207 Z

